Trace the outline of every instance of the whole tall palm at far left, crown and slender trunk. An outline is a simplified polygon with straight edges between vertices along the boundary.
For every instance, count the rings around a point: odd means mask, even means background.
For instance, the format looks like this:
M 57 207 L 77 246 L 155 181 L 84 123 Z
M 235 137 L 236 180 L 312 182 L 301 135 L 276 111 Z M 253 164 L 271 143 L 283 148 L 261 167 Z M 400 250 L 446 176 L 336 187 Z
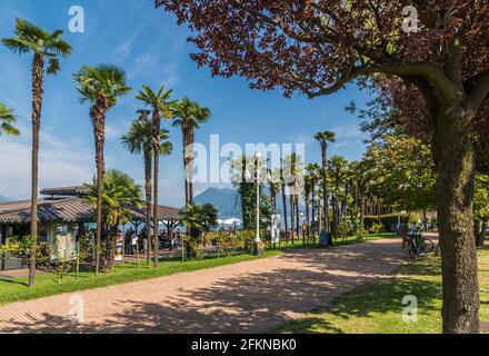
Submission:
M 60 70 L 59 57 L 68 57 L 71 46 L 61 36 L 62 30 L 50 33 L 22 19 L 16 19 L 14 38 L 2 39 L 3 44 L 19 55 L 32 53 L 32 168 L 31 168 L 31 259 L 29 286 L 36 284 L 36 245 L 38 238 L 38 176 L 39 131 L 43 100 L 44 70 L 56 75 Z M 48 63 L 47 63 L 48 62 Z M 46 68 L 46 65 L 47 68 Z

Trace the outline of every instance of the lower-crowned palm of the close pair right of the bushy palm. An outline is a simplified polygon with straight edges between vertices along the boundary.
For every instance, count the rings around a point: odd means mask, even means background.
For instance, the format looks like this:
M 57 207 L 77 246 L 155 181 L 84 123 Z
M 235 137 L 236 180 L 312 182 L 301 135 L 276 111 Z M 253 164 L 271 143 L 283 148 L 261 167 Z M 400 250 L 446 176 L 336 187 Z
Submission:
M 152 125 L 149 121 L 150 110 L 138 110 L 139 118 L 134 120 L 129 132 L 122 136 L 122 146 L 132 155 L 143 156 L 144 161 L 144 191 L 146 191 L 146 226 L 147 226 L 147 261 L 151 264 L 151 171 L 152 171 Z M 160 130 L 160 155 L 170 155 L 173 146 L 168 139 L 169 131 Z

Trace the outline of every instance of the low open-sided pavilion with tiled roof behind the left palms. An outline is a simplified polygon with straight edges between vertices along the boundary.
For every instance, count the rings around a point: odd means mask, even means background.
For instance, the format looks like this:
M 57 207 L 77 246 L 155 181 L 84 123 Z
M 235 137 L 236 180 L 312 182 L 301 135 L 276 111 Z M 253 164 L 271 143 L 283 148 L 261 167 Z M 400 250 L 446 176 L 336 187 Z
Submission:
M 57 187 L 46 188 L 40 191 L 43 196 L 38 206 L 39 236 L 41 243 L 57 244 L 58 250 L 66 259 L 71 258 L 81 236 L 88 234 L 94 238 L 94 210 L 86 199 L 88 188 Z M 131 219 L 127 224 L 131 226 L 132 237 L 138 237 L 140 251 L 146 251 L 146 211 L 143 208 L 129 207 Z M 169 236 L 173 236 L 177 246 L 178 235 L 174 228 L 179 225 L 179 210 L 176 208 L 159 206 L 160 248 L 171 249 Z M 11 201 L 0 204 L 0 246 L 12 241 L 21 241 L 29 236 L 30 228 L 30 201 Z M 132 244 L 128 239 L 124 245 L 129 246 L 126 253 L 133 253 Z M 19 258 L 10 254 L 0 256 L 0 270 L 18 270 L 27 268 L 27 258 Z

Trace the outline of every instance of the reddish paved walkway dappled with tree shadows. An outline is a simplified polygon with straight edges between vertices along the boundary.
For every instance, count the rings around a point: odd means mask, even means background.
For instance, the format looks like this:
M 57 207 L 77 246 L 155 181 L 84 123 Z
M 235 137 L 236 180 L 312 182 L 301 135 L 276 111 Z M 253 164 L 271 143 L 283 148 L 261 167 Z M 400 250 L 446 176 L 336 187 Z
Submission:
M 2 333 L 260 333 L 408 260 L 398 239 L 182 273 L 0 307 Z M 84 322 L 70 322 L 70 298 Z M 77 301 L 72 298 L 71 301 Z

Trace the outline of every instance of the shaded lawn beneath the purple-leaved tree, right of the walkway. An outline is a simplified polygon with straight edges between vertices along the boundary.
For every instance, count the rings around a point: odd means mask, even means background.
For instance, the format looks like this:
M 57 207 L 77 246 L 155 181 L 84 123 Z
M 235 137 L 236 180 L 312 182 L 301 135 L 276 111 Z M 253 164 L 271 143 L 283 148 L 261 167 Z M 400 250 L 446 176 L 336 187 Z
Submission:
M 489 322 L 489 248 L 479 250 L 480 319 Z M 418 298 L 418 322 L 402 319 L 402 298 Z M 427 256 L 401 267 L 390 279 L 345 294 L 277 333 L 435 334 L 441 333 L 440 258 Z M 487 330 L 486 330 L 487 332 Z

